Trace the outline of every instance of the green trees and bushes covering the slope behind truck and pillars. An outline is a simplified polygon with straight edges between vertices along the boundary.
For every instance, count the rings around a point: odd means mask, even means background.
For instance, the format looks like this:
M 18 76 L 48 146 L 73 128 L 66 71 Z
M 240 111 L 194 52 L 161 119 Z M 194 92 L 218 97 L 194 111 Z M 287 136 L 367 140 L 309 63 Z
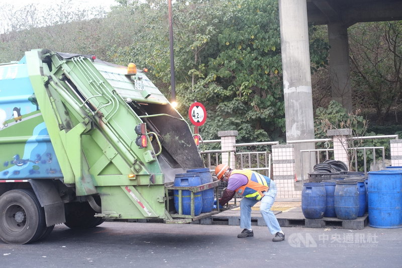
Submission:
M 74 11 L 66 1 L 52 10 L 39 10 L 33 4 L 17 11 L 2 7 L 8 25 L 0 39 L 0 62 L 19 60 L 24 51 L 35 48 L 95 54 L 113 63 L 135 62 L 148 68 L 150 78 L 169 95 L 166 1 L 116 2 L 119 5 L 109 13 Z M 277 0 L 177 0 L 173 23 L 178 110 L 185 115 L 194 101 L 206 106 L 208 120 L 200 128 L 203 138 L 217 139 L 218 131 L 232 129 L 238 130 L 242 142 L 283 141 Z M 355 127 L 359 135 L 368 130 L 382 134 L 401 130 L 401 33 L 400 22 L 349 28 L 356 108 L 350 117 L 330 104 L 326 27 L 309 28 L 317 137 L 324 137 L 329 127 L 346 125 Z M 374 116 L 368 124 L 370 114 Z M 389 124 L 395 126 L 384 131 L 375 128 Z

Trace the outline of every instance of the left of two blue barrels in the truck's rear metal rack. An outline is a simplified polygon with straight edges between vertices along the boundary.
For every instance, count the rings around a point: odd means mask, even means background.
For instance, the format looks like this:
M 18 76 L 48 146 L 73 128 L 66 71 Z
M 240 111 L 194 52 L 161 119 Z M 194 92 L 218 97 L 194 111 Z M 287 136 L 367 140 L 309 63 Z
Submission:
M 179 187 L 190 187 L 201 185 L 201 179 L 199 173 L 181 173 L 176 174 L 174 177 L 173 186 Z M 173 190 L 174 194 L 174 208 L 177 213 L 179 213 L 179 190 Z M 181 204 L 182 204 L 182 214 L 191 215 L 191 192 L 188 190 L 181 191 Z M 201 192 L 194 193 L 194 216 L 201 213 L 203 208 L 203 199 L 201 197 Z

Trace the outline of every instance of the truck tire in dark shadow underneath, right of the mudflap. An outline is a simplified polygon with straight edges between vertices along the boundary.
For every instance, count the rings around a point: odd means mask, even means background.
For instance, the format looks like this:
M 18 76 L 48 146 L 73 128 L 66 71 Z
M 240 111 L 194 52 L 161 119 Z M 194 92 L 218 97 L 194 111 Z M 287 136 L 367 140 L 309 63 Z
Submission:
M 72 202 L 65 204 L 66 222 L 71 229 L 93 228 L 104 222 L 103 218 L 94 217 L 95 211 L 88 202 Z

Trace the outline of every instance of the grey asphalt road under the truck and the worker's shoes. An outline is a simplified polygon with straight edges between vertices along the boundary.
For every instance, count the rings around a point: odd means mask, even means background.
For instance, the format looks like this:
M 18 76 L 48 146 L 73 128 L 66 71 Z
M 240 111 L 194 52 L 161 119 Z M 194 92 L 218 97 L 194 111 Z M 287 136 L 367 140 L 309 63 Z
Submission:
M 401 267 L 402 229 L 266 227 L 237 238 L 238 226 L 105 222 L 89 230 L 55 227 L 27 245 L 0 242 L 0 267 Z

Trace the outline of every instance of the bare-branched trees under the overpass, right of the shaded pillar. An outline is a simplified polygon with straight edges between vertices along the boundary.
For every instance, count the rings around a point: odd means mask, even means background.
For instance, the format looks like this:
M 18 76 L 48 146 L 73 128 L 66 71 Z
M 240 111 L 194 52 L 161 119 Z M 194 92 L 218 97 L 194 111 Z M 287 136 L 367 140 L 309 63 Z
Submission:
M 355 102 L 373 109 L 382 125 L 402 97 L 402 22 L 358 24 L 351 28 L 350 60 Z

